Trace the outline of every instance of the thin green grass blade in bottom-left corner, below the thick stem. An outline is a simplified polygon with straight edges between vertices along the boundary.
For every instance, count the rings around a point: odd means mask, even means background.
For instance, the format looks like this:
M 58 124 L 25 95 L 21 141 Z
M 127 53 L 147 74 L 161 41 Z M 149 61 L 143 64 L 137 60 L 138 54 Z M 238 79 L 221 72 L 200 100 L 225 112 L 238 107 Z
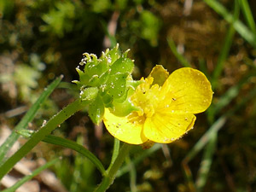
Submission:
M 31 180 L 32 177 L 35 177 L 40 172 L 43 172 L 45 169 L 49 168 L 50 166 L 55 165 L 55 163 L 59 160 L 59 158 L 56 158 L 55 160 L 50 160 L 49 162 L 45 163 L 44 166 L 40 166 L 38 169 L 33 171 L 30 175 L 27 175 L 26 177 L 21 178 L 17 183 L 15 183 L 13 186 L 11 186 L 9 189 L 4 189 L 2 192 L 15 192 L 16 189 L 18 189 L 22 184 L 26 183 L 27 181 Z

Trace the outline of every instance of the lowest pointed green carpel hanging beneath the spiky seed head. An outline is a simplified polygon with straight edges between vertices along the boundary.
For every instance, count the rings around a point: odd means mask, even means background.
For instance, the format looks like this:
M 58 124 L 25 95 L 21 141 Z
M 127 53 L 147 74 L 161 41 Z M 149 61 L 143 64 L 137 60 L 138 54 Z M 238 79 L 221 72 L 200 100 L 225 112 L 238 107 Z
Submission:
M 103 117 L 105 108 L 104 108 L 104 103 L 102 101 L 102 97 L 97 95 L 96 99 L 90 103 L 88 113 L 90 116 L 90 119 L 98 125 Z

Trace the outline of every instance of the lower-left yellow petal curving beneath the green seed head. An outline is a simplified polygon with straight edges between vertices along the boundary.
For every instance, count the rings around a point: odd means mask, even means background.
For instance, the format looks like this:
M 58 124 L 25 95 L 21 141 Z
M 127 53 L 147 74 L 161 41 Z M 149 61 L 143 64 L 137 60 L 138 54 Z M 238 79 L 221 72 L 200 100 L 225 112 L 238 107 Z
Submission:
M 130 144 L 142 144 L 148 140 L 142 131 L 144 120 L 142 117 L 137 116 L 136 112 L 126 117 L 117 117 L 108 108 L 105 108 L 103 118 L 108 132 L 113 137 Z

